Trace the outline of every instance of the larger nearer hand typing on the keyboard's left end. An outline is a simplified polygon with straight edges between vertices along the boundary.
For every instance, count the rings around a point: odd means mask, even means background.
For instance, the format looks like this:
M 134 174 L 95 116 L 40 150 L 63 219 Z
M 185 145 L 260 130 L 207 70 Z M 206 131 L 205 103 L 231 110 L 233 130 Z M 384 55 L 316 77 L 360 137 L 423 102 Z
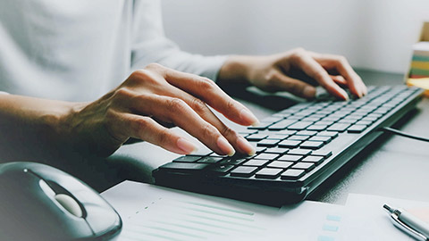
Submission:
M 207 107 L 241 125 L 257 123 L 244 105 L 233 100 L 214 81 L 149 64 L 133 72 L 121 86 L 89 104 L 79 104 L 65 120 L 76 149 L 107 156 L 130 137 L 145 140 L 177 154 L 196 149 L 172 129 L 175 125 L 197 137 L 217 154 L 254 154 L 248 141 L 228 128 Z

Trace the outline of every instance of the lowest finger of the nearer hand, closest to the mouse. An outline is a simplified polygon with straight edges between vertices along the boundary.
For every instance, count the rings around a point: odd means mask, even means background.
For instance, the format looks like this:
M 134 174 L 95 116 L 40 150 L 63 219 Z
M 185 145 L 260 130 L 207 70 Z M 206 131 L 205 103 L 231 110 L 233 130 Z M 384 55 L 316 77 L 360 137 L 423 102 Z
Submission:
M 166 129 L 155 120 L 147 116 L 140 116 L 131 113 L 118 113 L 120 120 L 116 123 L 116 128 L 128 137 L 139 138 L 159 145 L 164 149 L 176 154 L 191 154 L 197 150 L 188 139 L 179 136 L 171 129 Z

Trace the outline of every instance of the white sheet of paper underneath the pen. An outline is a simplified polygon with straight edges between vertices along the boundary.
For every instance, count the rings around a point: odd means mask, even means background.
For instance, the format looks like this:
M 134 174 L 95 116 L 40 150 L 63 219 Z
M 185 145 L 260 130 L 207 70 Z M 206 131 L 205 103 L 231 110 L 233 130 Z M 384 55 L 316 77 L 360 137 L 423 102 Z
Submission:
M 415 240 L 396 228 L 383 204 L 405 210 L 429 210 L 429 203 L 396 199 L 378 195 L 350 194 L 347 199 L 349 219 L 344 226 L 345 240 Z M 375 238 L 376 237 L 376 238 Z

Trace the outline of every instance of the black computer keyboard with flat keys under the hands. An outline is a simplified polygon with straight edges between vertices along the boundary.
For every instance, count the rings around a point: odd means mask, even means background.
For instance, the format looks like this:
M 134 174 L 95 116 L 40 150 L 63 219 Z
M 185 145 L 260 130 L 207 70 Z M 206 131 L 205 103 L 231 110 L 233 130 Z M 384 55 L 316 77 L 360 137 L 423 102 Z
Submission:
M 368 87 L 359 99 L 322 97 L 299 103 L 240 131 L 253 156 L 210 150 L 184 155 L 153 171 L 156 185 L 259 204 L 304 200 L 324 180 L 415 108 L 423 90 Z

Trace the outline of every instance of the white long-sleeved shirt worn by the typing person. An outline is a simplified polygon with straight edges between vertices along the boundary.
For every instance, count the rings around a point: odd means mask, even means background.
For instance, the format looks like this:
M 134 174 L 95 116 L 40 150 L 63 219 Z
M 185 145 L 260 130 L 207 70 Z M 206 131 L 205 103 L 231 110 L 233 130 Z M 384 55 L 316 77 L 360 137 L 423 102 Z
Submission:
M 215 79 L 225 56 L 164 37 L 159 0 L 0 1 L 0 91 L 92 101 L 150 62 Z

